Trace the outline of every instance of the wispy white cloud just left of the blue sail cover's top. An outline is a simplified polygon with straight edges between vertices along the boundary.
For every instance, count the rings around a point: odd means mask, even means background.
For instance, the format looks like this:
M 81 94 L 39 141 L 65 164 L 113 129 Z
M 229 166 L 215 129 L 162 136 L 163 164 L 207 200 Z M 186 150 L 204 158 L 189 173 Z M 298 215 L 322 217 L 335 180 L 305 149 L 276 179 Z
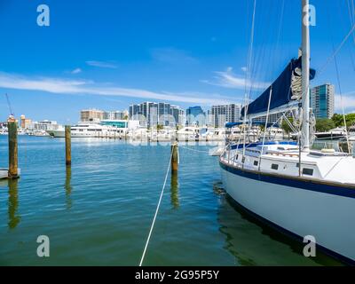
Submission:
M 270 86 L 270 83 L 250 82 L 248 79 L 246 81 L 245 75 L 234 75 L 233 67 L 227 67 L 225 71 L 217 71 L 215 74 L 212 81 L 202 80 L 201 82 L 239 90 L 244 90 L 245 87 L 247 89 L 252 87 L 254 90 L 264 90 Z

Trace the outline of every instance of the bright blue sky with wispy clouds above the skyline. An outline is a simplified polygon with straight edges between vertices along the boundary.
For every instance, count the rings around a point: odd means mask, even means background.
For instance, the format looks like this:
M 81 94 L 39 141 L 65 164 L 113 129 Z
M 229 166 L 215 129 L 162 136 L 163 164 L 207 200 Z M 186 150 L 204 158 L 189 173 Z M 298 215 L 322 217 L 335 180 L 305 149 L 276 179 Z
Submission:
M 300 0 L 256 0 L 251 98 L 296 57 Z M 313 0 L 312 67 L 351 30 L 348 3 Z M 36 24 L 48 4 L 50 27 Z M 76 122 L 83 108 L 145 100 L 186 107 L 242 102 L 253 0 L 1 0 L 0 121 L 13 112 Z M 343 104 L 355 111 L 355 37 L 338 53 Z M 334 60 L 312 82 L 335 83 Z

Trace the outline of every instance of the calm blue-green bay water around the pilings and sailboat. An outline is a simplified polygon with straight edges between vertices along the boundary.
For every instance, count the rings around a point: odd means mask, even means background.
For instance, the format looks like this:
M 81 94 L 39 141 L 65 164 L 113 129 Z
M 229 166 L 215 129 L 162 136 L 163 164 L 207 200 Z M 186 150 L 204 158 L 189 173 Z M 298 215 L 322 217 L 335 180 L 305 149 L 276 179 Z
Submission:
M 336 265 L 258 224 L 233 205 L 211 146 L 180 147 L 178 177 L 168 179 L 146 265 Z M 138 265 L 170 159 L 170 146 L 19 138 L 21 177 L 0 181 L 1 265 Z M 7 137 L 0 137 L 7 167 Z M 36 256 L 39 235 L 51 256 Z

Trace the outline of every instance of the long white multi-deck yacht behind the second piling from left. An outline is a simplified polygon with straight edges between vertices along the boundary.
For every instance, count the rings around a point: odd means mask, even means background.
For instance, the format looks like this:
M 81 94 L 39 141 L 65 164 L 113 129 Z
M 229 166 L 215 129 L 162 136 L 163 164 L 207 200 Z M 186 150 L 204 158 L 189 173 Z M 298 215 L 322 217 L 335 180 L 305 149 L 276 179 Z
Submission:
M 46 131 L 55 138 L 65 137 L 65 128 L 63 126 L 60 126 L 57 130 Z M 71 127 L 72 138 L 122 138 L 125 133 L 126 129 L 102 123 L 79 122 Z

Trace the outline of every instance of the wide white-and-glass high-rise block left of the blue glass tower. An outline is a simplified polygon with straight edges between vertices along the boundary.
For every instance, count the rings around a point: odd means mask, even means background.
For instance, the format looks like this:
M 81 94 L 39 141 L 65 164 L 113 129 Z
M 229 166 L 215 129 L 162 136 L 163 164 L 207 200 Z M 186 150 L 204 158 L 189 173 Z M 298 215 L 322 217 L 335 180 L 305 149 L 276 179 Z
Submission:
M 169 103 L 154 103 L 146 101 L 130 106 L 130 119 L 139 120 L 141 126 L 153 127 L 155 125 L 175 126 L 181 123 L 184 112 L 178 106 Z

